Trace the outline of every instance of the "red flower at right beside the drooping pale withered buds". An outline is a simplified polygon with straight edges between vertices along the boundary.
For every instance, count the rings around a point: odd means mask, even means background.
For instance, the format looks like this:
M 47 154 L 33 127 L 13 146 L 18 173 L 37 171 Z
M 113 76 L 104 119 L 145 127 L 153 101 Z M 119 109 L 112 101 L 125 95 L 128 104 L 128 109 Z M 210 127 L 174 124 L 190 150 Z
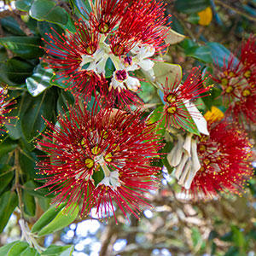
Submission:
M 201 169 L 196 172 L 189 193 L 210 198 L 222 191 L 240 194 L 253 176 L 247 162 L 251 147 L 247 135 L 225 121 L 209 122 L 208 130 L 210 136 L 198 138 Z

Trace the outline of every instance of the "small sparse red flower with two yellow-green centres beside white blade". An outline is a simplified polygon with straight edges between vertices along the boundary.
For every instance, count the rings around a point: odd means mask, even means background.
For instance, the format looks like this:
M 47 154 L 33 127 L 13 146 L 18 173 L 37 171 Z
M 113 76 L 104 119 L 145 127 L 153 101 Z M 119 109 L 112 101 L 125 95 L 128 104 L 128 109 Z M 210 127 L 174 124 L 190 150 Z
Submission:
M 201 79 L 201 73 L 196 67 L 189 73 L 183 84 L 181 84 L 181 80 L 169 84 L 168 79 L 166 79 L 166 84 L 163 86 L 164 101 L 166 102 L 163 118 L 166 119 L 167 128 L 192 125 L 188 120 L 192 119 L 191 114 L 193 115 L 193 112 L 189 112 L 188 103 L 196 98 L 206 96 L 203 94 L 210 90 L 211 86 L 205 87 L 204 81 L 205 79 Z

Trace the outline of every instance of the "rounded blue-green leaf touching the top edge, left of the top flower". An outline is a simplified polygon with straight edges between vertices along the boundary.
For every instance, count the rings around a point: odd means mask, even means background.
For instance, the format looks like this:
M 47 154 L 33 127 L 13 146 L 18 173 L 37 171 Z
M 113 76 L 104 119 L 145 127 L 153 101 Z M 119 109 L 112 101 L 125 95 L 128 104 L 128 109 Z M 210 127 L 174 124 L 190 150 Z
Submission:
M 68 15 L 65 9 L 56 6 L 54 1 L 35 0 L 29 11 L 32 18 L 39 21 L 49 21 L 56 24 L 67 24 Z

